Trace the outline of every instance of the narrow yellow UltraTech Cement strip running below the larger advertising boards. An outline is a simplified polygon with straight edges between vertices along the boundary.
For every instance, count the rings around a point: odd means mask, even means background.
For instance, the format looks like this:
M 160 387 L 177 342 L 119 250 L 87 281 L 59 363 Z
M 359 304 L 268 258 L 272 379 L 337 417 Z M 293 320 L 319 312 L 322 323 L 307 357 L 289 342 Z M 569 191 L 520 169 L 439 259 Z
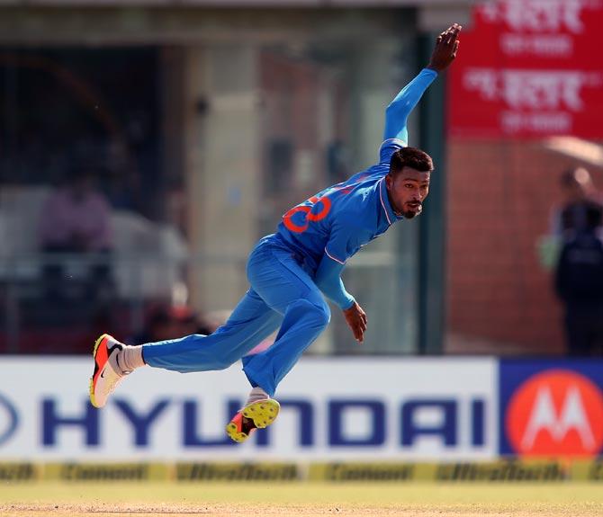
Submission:
M 596 461 L 501 460 L 463 463 L 0 463 L 0 481 L 116 482 L 157 481 L 211 483 L 229 481 L 407 484 L 601 482 L 603 465 Z

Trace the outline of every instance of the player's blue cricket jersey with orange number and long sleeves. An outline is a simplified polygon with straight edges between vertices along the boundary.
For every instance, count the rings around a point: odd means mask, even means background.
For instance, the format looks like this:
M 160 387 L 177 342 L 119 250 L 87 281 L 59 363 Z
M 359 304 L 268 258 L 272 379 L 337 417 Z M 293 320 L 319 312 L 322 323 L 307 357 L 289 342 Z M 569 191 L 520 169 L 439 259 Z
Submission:
M 424 68 L 387 107 L 377 164 L 293 207 L 278 225 L 275 238 L 302 255 L 320 290 L 341 308 L 355 301 L 340 279 L 347 259 L 402 218 L 390 205 L 385 175 L 392 154 L 407 145 L 410 111 L 436 76 Z

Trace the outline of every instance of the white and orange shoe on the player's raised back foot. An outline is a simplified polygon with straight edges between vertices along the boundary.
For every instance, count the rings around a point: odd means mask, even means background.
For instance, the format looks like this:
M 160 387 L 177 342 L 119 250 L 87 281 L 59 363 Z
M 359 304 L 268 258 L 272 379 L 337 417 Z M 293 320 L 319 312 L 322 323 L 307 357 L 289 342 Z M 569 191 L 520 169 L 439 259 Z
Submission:
M 123 343 L 109 334 L 103 334 L 94 343 L 94 373 L 90 379 L 90 402 L 94 407 L 103 407 L 125 377 L 116 361 L 117 353 L 123 347 Z

